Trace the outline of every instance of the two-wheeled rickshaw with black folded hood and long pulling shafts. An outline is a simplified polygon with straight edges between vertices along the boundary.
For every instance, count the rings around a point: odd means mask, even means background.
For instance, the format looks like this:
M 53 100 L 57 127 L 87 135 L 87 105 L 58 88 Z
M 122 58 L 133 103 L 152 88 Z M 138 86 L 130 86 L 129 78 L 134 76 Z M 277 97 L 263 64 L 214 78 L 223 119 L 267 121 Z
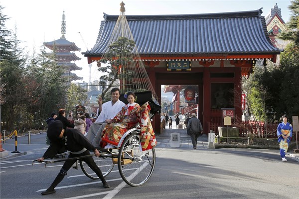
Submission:
M 155 113 L 160 111 L 160 105 L 151 99 L 151 92 L 140 92 L 135 93 L 137 96 L 138 103 L 144 103 L 149 101 L 150 111 L 149 117 L 151 118 Z M 150 99 L 149 99 L 150 98 Z M 147 100 L 149 99 L 149 100 Z M 120 100 L 126 102 L 124 95 L 121 95 Z M 106 177 L 114 168 L 115 165 L 118 166 L 119 173 L 122 179 L 130 186 L 136 187 L 145 184 L 152 175 L 155 166 L 155 149 L 154 147 L 150 150 L 143 151 L 141 149 L 140 143 L 140 127 L 137 124 L 135 127 L 128 130 L 115 149 L 98 149 L 100 156 L 96 157 L 94 154 L 88 155 L 92 156 L 97 166 L 101 169 L 103 176 Z M 57 154 L 59 156 L 67 156 L 68 153 Z M 83 173 L 91 178 L 98 179 L 99 177 L 94 173 L 94 171 L 89 168 L 89 166 L 81 159 L 88 156 L 81 156 L 77 158 L 64 158 L 64 159 L 54 159 L 54 160 L 44 160 L 45 167 L 51 163 L 63 162 L 70 159 L 77 159 L 76 164 L 73 166 L 74 169 L 78 169 L 80 165 Z M 37 160 L 34 160 L 35 162 Z M 32 165 L 33 165 L 32 162 Z

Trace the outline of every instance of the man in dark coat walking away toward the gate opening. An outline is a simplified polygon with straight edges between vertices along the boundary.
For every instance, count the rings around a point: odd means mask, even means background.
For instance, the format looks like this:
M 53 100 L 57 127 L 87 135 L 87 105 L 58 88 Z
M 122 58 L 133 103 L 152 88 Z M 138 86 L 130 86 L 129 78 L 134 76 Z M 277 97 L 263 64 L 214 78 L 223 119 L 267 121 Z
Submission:
M 200 134 L 202 134 L 202 125 L 194 112 L 192 113 L 192 117 L 188 121 L 187 130 L 191 137 L 193 149 L 196 149 L 197 138 Z

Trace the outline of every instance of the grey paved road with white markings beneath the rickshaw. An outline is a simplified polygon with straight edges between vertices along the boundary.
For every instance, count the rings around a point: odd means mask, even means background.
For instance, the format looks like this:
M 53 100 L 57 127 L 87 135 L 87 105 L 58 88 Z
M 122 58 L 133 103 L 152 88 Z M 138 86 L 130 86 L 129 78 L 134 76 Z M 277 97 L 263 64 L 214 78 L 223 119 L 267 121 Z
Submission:
M 111 188 L 87 178 L 82 171 L 71 169 L 56 188 L 56 194 L 41 196 L 53 181 L 61 164 L 44 168 L 31 165 L 48 145 L 45 134 L 19 138 L 18 150 L 26 155 L 1 159 L 0 198 L 97 198 L 97 199 L 298 199 L 299 162 L 288 155 L 282 162 L 278 150 L 208 149 L 207 139 L 198 141 L 194 150 L 189 138 L 180 147 L 170 147 L 169 137 L 157 136 L 156 167 L 149 181 L 141 187 L 130 187 L 120 178 L 117 168 L 106 179 Z M 34 140 L 34 141 L 33 141 Z M 3 148 L 14 150 L 13 140 Z M 283 172 L 282 172 L 283 171 Z

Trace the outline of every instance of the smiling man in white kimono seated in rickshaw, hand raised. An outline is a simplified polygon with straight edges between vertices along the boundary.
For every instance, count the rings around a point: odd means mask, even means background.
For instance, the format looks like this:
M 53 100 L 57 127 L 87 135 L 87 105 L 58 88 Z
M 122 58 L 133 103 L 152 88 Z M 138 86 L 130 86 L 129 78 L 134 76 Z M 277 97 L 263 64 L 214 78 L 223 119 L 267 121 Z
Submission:
M 102 104 L 102 100 L 99 99 L 99 111 L 101 111 L 97 120 L 91 124 L 88 129 L 86 138 L 97 148 L 100 148 L 100 140 L 106 122 L 112 119 L 117 113 L 122 110 L 122 107 L 126 104 L 119 100 L 120 90 L 119 88 L 113 88 L 111 90 L 111 101 L 107 101 Z

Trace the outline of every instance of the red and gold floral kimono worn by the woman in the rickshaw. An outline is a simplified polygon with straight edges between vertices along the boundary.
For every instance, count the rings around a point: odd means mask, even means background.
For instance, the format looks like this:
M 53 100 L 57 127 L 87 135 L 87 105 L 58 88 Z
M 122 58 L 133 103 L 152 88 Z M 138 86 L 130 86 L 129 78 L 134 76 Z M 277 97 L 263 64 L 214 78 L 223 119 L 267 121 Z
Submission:
M 113 118 L 111 123 L 105 126 L 100 146 L 104 148 L 107 143 L 117 145 L 124 133 L 139 122 L 143 151 L 154 147 L 156 145 L 156 139 L 149 119 L 149 110 L 150 106 L 148 102 L 142 106 L 138 103 L 128 103 L 125 105 Z

